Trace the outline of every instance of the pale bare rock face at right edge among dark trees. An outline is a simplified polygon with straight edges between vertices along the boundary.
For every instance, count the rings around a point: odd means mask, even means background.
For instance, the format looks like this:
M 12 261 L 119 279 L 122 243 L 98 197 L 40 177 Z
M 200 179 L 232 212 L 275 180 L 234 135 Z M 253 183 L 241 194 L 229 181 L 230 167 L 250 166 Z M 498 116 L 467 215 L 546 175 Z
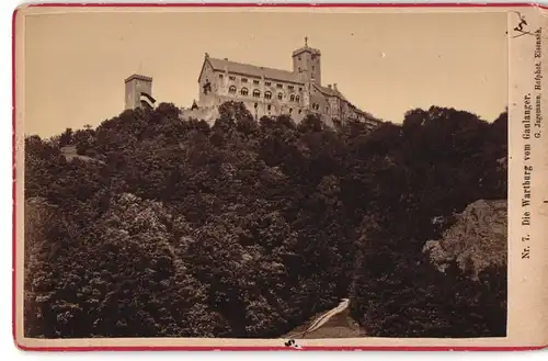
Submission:
M 426 241 L 423 252 L 439 271 L 456 261 L 473 280 L 490 266 L 505 267 L 507 201 L 479 200 L 469 204 L 442 239 Z

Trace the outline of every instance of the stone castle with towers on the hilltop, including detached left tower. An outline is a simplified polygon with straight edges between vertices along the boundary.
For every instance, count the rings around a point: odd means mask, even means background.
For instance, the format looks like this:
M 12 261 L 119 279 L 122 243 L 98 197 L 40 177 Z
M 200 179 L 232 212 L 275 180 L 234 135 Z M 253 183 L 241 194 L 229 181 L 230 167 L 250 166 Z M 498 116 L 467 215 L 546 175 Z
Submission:
M 355 120 L 374 128 L 381 121 L 354 106 L 336 83 L 321 84 L 321 53 L 305 45 L 292 54 L 293 70 L 283 70 L 219 59 L 205 54 L 198 76 L 198 100 L 181 110 L 184 119 L 213 122 L 217 108 L 227 101 L 242 102 L 256 120 L 266 115 L 287 114 L 297 123 L 317 114 L 329 125 Z M 151 94 L 151 78 L 126 79 L 126 109 L 142 106 L 141 93 Z M 140 87 L 142 91 L 138 91 Z M 145 105 L 147 100 L 145 99 Z

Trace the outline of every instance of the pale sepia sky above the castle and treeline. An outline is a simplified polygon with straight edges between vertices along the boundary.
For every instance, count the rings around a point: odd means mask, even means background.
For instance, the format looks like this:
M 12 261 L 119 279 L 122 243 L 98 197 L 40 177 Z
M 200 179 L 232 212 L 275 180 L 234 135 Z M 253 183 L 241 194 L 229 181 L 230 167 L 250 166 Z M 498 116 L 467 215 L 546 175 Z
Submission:
M 321 50 L 322 83 L 401 123 L 452 106 L 493 121 L 507 105 L 505 13 L 70 13 L 28 15 L 25 133 L 99 125 L 124 110 L 124 79 L 153 78 L 159 102 L 190 106 L 204 54 L 292 69 Z

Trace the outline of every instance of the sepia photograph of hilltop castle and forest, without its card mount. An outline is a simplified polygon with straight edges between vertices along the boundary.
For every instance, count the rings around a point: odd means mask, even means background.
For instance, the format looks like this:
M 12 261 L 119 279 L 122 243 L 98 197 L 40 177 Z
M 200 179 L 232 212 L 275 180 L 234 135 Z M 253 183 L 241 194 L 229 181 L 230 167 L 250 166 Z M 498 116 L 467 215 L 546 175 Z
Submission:
M 506 337 L 507 21 L 26 15 L 24 337 Z

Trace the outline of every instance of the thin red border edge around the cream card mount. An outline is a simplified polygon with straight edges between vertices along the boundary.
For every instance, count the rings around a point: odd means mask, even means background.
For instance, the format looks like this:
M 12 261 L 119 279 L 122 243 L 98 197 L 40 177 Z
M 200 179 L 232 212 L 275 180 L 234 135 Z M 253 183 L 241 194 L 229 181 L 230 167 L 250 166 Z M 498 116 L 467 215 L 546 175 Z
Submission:
M 134 8 L 514 8 L 514 7 L 536 7 L 548 9 L 548 5 L 534 2 L 509 2 L 509 3 L 34 3 L 26 4 L 33 8 L 62 7 L 62 8 L 106 8 L 106 7 L 134 7 Z M 16 106 L 15 106 L 15 21 L 19 8 L 13 10 L 12 15 L 12 334 L 15 347 L 23 351 L 287 351 L 294 350 L 287 347 L 127 347 L 127 346 L 105 346 L 105 347 L 27 347 L 19 343 L 15 324 L 16 324 Z M 545 346 L 526 347 L 412 347 L 412 346 L 364 346 L 364 347 L 304 347 L 302 351 L 532 351 L 548 348 Z

